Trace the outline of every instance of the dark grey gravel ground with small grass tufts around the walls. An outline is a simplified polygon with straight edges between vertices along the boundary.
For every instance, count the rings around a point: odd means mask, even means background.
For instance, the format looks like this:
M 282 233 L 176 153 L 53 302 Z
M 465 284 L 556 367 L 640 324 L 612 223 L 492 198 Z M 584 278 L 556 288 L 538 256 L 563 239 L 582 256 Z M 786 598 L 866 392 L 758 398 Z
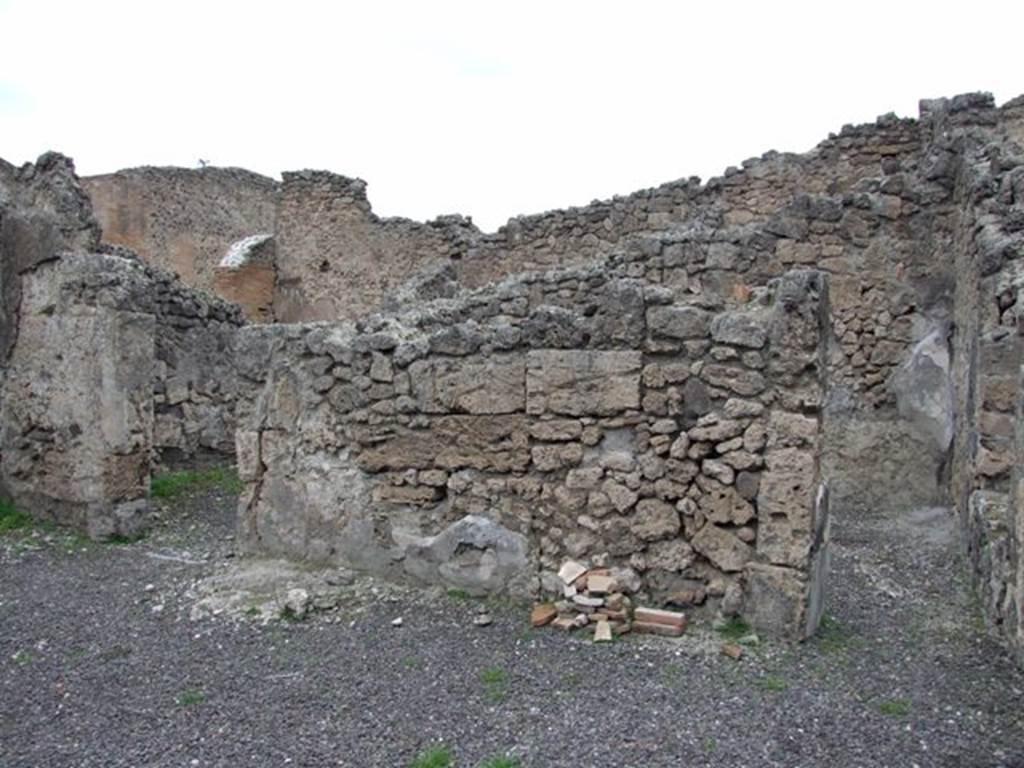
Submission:
M 190 614 L 238 568 L 233 498 L 145 540 L 0 544 L 0 766 L 1024 766 L 1024 675 L 987 639 L 948 516 L 835 521 L 829 617 L 735 663 L 708 628 L 595 646 L 525 608 L 350 588 L 303 622 Z M 392 620 L 401 616 L 402 626 Z

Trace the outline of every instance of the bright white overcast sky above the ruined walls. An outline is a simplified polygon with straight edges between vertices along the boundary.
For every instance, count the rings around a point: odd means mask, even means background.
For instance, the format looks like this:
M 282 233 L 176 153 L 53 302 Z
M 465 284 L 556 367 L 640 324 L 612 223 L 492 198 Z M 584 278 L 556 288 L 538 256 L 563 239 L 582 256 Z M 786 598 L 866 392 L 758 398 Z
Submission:
M 0 0 L 0 157 L 359 176 L 381 215 L 509 216 L 918 99 L 1024 93 L 1020 0 Z

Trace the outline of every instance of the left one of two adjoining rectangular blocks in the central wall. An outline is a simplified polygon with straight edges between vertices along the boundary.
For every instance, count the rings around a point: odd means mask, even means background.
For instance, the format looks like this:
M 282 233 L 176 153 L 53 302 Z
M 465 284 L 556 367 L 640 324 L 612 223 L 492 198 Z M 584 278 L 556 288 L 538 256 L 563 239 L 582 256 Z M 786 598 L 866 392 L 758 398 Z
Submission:
M 512 414 L 526 404 L 521 354 L 434 357 L 409 367 L 413 395 L 425 414 Z

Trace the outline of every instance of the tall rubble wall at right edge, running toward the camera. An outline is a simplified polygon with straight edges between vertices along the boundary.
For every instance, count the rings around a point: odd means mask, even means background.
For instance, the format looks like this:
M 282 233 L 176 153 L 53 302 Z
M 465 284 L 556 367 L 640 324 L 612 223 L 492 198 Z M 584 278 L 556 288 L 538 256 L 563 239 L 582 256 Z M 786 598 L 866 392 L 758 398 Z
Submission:
M 958 158 L 951 496 L 985 618 L 1024 658 L 1024 103 L 936 106 Z

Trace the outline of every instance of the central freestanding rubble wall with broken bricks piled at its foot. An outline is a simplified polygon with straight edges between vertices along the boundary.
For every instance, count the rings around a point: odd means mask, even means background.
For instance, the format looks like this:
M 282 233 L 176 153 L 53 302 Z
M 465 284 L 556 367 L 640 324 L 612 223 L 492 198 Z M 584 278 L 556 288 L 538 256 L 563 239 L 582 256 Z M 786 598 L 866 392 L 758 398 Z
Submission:
M 536 594 L 581 558 L 812 632 L 824 283 L 726 301 L 646 280 L 658 258 L 241 331 L 241 541 L 474 592 Z

